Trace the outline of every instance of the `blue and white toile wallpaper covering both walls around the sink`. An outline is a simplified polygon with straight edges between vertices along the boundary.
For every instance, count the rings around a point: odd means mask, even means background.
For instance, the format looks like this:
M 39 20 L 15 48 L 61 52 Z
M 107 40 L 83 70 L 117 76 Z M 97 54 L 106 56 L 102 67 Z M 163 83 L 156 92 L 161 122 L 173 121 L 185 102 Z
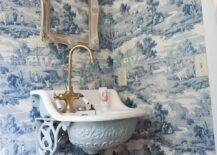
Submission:
M 62 2 L 52 26 L 80 34 L 78 7 Z M 100 51 L 95 64 L 85 53 L 74 57 L 73 84 L 81 89 L 107 86 L 129 107 L 152 109 L 126 144 L 106 155 L 215 155 L 208 77 L 197 77 L 194 60 L 205 54 L 200 0 L 100 0 Z M 83 14 L 85 15 L 85 14 Z M 77 18 L 78 17 L 78 18 Z M 63 19 L 62 19 L 63 18 Z M 86 17 L 85 17 L 86 18 Z M 62 24 L 62 22 L 66 24 Z M 62 24 L 62 26 L 61 26 Z M 40 41 L 40 1 L 0 0 L 0 154 L 35 153 L 29 92 L 65 88 L 68 49 Z M 127 85 L 119 85 L 119 70 Z M 60 152 L 84 154 L 70 144 Z

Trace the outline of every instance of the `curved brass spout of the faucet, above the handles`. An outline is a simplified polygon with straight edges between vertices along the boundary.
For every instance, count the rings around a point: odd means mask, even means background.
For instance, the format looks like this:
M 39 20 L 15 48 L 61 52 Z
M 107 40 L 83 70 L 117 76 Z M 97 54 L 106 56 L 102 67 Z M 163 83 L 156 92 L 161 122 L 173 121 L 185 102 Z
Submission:
M 77 49 L 77 48 L 83 48 L 85 50 L 88 51 L 89 53 L 89 57 L 90 57 L 90 63 L 93 64 L 93 54 L 91 52 L 91 49 L 85 45 L 76 45 L 74 46 L 70 52 L 69 52 L 69 60 L 68 60 L 68 86 L 67 86 L 67 90 L 68 91 L 71 91 L 73 88 L 72 88 L 72 80 L 71 80 L 71 77 L 72 77 L 72 55 L 74 53 L 74 51 Z

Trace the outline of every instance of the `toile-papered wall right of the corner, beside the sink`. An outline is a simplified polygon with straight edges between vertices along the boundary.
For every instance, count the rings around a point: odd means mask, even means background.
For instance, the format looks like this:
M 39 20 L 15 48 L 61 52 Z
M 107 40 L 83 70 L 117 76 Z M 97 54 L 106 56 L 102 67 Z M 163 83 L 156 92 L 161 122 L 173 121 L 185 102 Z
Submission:
M 198 55 L 206 59 L 201 2 L 118 0 L 110 12 L 114 73 L 128 73 L 119 93 L 153 109 L 131 151 L 215 154 L 209 80 L 195 68 Z

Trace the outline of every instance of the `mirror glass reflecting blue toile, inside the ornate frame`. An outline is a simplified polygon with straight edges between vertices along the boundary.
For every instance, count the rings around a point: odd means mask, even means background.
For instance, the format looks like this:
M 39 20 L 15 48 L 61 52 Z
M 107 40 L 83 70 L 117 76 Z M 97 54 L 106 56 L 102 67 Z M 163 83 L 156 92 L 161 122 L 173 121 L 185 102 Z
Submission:
M 51 0 L 51 30 L 67 36 L 88 35 L 88 6 L 75 0 Z

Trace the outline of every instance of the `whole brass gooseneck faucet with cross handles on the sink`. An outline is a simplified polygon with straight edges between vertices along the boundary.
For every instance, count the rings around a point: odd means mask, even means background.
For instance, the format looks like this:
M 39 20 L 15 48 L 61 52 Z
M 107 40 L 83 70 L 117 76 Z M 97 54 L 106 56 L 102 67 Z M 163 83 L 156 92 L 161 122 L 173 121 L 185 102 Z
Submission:
M 89 57 L 90 57 L 90 63 L 93 64 L 93 55 L 91 52 L 91 49 L 85 45 L 76 45 L 74 46 L 70 52 L 69 52 L 69 60 L 68 60 L 68 86 L 67 86 L 67 90 L 59 95 L 54 94 L 54 98 L 55 99 L 59 99 L 59 100 L 63 100 L 66 103 L 66 107 L 62 110 L 63 113 L 71 113 L 71 112 L 75 112 L 76 110 L 73 107 L 74 101 L 84 97 L 83 94 L 80 93 L 75 93 L 73 91 L 73 87 L 72 87 L 72 55 L 74 53 L 74 51 L 78 48 L 83 48 L 86 49 L 89 53 Z

